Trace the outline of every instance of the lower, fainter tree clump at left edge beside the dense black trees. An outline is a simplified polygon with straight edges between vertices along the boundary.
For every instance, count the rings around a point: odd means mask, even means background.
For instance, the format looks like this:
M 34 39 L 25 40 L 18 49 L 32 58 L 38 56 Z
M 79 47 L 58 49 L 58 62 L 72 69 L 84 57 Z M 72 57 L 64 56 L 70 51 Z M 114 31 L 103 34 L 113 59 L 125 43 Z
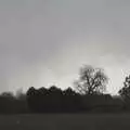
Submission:
M 2 114 L 28 113 L 26 94 L 21 93 L 20 96 L 15 96 L 11 92 L 1 93 L 0 94 L 0 113 Z

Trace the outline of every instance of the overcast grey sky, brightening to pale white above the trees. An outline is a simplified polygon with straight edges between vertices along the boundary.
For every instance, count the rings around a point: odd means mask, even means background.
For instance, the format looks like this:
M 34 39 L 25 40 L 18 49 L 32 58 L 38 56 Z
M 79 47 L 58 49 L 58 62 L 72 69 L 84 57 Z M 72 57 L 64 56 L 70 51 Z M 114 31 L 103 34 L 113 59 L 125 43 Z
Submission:
M 115 94 L 130 74 L 129 0 L 0 0 L 0 92 L 73 86 L 103 67 Z

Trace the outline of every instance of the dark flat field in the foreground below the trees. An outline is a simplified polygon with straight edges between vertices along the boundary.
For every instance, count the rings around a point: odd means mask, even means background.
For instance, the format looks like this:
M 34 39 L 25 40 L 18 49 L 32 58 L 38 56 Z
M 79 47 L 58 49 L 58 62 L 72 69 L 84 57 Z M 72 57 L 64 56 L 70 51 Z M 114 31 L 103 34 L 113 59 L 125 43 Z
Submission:
M 130 115 L 1 115 L 0 130 L 130 130 Z

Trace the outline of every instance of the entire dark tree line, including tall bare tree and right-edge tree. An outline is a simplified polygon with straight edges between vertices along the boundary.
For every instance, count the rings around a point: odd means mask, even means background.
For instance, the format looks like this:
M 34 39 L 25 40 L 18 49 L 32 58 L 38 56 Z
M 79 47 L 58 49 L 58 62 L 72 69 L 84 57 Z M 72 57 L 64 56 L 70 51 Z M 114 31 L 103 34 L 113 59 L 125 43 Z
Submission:
M 104 94 L 107 82 L 102 68 L 84 65 L 74 81 L 74 88 L 30 87 L 26 93 L 18 92 L 17 95 L 1 93 L 0 114 L 129 112 L 130 76 L 126 77 L 119 96 Z

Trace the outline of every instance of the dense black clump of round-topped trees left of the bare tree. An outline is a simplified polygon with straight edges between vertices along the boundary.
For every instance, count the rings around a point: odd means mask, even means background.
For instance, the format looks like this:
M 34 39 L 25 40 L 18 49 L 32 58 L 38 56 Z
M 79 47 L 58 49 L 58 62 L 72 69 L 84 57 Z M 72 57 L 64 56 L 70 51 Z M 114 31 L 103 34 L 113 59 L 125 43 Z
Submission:
M 79 110 L 81 99 L 70 88 L 62 91 L 55 86 L 37 90 L 31 87 L 27 91 L 27 102 L 32 112 L 60 113 Z

